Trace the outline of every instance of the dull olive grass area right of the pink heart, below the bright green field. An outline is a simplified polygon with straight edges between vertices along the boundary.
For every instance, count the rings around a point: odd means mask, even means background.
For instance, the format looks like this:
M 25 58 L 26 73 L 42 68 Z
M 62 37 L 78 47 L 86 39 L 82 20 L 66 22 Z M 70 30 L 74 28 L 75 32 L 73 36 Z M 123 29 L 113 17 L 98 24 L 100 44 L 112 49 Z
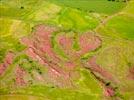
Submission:
M 110 38 L 104 38 L 103 42 L 105 43 L 103 43 L 101 50 L 96 54 L 97 64 L 110 72 L 116 79 L 116 85 L 109 81 L 118 87 L 123 98 L 133 98 L 134 81 L 128 77 L 129 68 L 134 65 L 133 42 Z

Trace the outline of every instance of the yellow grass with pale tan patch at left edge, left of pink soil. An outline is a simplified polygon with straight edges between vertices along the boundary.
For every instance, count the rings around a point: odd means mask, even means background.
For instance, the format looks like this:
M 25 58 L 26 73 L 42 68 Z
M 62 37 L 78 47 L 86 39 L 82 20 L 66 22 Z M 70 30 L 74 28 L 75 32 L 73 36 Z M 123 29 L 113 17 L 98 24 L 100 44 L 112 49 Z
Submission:
M 32 31 L 32 24 L 0 18 L 0 62 L 8 51 L 21 51 L 25 48 L 20 43 L 20 38 L 28 36 Z

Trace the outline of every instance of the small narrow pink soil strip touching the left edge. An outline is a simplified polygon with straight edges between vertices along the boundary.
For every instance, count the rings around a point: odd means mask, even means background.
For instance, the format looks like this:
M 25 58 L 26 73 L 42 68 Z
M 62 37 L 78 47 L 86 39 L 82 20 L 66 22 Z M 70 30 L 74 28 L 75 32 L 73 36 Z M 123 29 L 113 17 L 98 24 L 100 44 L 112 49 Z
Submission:
M 8 52 L 5 59 L 4 59 L 4 63 L 0 64 L 0 75 L 2 75 L 7 67 L 12 64 L 14 58 L 14 54 L 12 52 Z

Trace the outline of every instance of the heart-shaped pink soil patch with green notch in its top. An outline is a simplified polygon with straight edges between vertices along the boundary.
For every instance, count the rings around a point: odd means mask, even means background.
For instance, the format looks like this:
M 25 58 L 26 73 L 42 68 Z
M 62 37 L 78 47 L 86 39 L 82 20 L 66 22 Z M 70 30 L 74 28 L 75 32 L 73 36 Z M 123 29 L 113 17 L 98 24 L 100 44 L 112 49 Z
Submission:
M 95 50 L 101 45 L 101 40 L 99 37 L 93 35 L 92 33 L 84 33 L 80 36 L 79 45 L 81 50 L 79 51 L 73 50 L 73 37 L 59 35 L 57 41 L 70 59 L 78 59 L 81 55 Z

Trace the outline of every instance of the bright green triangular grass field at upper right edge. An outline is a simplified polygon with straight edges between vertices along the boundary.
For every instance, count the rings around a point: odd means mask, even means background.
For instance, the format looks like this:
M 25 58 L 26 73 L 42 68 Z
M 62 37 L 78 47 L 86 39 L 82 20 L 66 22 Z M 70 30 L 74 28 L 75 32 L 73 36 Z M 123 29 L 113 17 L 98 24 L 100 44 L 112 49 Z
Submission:
M 102 36 L 134 40 L 134 1 L 130 1 L 119 14 L 109 18 L 98 28 Z

